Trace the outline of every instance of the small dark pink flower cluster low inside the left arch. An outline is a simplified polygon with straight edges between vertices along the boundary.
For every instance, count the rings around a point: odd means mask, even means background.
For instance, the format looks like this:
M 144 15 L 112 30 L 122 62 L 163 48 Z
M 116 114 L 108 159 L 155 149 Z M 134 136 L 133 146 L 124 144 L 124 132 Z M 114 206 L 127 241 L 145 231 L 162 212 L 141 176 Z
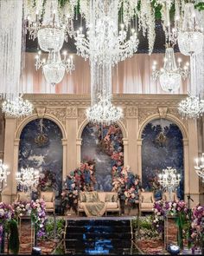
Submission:
M 56 188 L 55 174 L 49 170 L 42 171 L 37 187 L 40 191 L 48 191 Z

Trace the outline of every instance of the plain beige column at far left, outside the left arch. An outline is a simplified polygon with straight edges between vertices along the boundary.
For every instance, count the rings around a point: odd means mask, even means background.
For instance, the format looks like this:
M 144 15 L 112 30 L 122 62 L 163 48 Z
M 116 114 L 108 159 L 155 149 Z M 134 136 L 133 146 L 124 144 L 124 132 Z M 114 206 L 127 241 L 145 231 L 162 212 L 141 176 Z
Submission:
M 10 203 L 12 196 L 15 196 L 15 175 L 16 164 L 14 164 L 15 154 L 15 131 L 16 131 L 16 118 L 5 118 L 5 138 L 4 138 L 4 163 L 8 165 L 10 175 L 8 176 L 7 187 L 3 191 L 3 201 Z

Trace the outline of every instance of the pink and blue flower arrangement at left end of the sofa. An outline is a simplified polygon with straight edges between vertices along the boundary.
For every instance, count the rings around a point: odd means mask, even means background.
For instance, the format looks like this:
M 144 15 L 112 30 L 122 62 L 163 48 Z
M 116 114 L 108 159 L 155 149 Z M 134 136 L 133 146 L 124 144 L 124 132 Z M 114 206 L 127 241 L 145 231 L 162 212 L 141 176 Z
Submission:
M 95 162 L 93 160 L 80 163 L 80 167 L 67 175 L 64 189 L 61 193 L 64 210 L 73 208 L 76 212 L 80 191 L 94 190 Z

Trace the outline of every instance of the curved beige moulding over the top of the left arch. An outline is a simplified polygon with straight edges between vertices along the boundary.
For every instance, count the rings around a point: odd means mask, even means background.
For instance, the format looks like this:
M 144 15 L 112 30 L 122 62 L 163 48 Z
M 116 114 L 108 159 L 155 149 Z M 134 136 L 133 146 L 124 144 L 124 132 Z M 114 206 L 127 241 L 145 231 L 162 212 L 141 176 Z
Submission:
M 29 115 L 28 117 L 26 117 L 25 119 L 23 119 L 20 124 L 18 125 L 18 127 L 16 128 L 16 133 L 15 133 L 15 139 L 19 140 L 20 136 L 22 134 L 22 129 L 30 122 L 33 121 L 35 119 L 38 118 L 45 118 L 51 121 L 54 121 L 54 123 L 61 129 L 61 134 L 62 134 L 62 140 L 67 139 L 67 133 L 66 130 L 63 126 L 63 124 L 61 123 L 61 121 L 56 118 L 54 115 L 50 115 L 50 114 L 45 114 L 43 116 L 39 116 L 37 114 L 34 115 Z

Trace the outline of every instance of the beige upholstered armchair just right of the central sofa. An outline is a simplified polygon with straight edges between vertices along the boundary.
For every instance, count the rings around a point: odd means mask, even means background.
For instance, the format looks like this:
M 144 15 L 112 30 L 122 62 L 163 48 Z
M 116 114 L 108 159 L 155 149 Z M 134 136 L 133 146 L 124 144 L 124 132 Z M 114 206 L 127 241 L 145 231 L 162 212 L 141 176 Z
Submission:
M 143 212 L 153 212 L 154 206 L 154 194 L 153 192 L 141 192 L 139 197 L 139 211 Z

